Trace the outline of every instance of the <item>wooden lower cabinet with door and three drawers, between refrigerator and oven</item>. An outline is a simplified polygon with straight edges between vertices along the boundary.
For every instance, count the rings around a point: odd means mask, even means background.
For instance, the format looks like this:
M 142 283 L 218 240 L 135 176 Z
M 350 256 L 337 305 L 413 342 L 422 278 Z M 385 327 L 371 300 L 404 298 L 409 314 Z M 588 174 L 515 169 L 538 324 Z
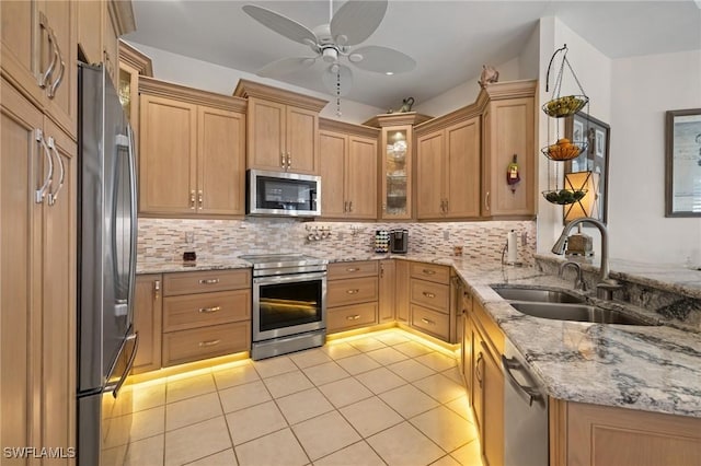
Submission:
M 251 271 L 137 277 L 135 374 L 251 349 Z

